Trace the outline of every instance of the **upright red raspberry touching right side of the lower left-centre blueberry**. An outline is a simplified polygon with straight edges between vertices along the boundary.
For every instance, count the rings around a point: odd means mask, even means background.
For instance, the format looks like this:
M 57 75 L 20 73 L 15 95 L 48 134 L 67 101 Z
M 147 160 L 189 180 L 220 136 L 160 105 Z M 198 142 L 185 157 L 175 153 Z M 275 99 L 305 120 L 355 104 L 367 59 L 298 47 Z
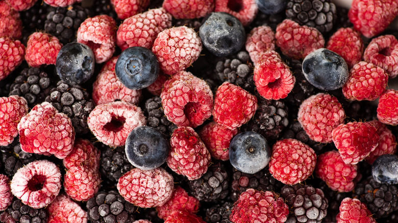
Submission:
M 191 127 L 179 127 L 170 137 L 167 165 L 188 180 L 201 178 L 210 165 L 210 153 Z

